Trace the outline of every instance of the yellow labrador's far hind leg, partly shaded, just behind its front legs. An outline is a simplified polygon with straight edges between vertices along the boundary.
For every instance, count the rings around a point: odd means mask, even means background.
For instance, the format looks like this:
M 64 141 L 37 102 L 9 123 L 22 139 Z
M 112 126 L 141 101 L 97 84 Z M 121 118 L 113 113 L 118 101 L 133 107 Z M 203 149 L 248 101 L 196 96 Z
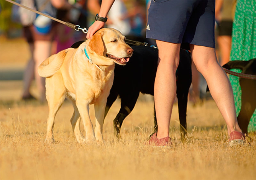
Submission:
M 70 122 L 71 122 L 71 125 L 72 125 L 72 129 L 73 129 L 73 132 L 75 134 L 75 137 L 77 139 L 77 142 L 79 143 L 84 143 L 85 142 L 85 138 L 84 136 L 82 135 L 81 131 L 80 131 L 80 120 L 81 120 L 81 117 L 80 117 L 80 114 L 79 114 L 79 111 L 77 109 L 77 106 L 75 104 L 75 102 L 72 102 L 73 104 L 73 107 L 74 107 L 74 113 L 70 119 Z

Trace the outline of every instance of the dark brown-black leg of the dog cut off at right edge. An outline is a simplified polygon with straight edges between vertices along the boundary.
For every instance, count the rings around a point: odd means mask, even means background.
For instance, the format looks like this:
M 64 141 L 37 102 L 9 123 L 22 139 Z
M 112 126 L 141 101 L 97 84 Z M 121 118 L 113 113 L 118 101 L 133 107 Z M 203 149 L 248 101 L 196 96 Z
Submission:
M 251 85 L 251 86 L 249 86 Z M 243 133 L 248 133 L 248 125 L 256 108 L 256 84 L 255 80 L 241 79 L 241 111 L 237 117 L 238 125 Z M 252 93 L 253 92 L 253 93 Z

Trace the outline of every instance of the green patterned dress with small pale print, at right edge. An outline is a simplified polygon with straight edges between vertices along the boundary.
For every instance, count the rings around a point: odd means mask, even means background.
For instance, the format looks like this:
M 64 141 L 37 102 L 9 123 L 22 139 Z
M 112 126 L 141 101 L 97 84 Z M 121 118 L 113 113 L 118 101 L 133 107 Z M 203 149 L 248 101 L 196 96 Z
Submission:
M 230 60 L 248 61 L 253 58 L 256 58 L 256 0 L 238 0 L 232 29 Z M 238 69 L 234 69 L 234 71 L 241 72 Z M 239 78 L 230 75 L 230 82 L 238 115 L 241 109 Z M 256 131 L 256 110 L 248 126 L 248 132 L 251 131 Z

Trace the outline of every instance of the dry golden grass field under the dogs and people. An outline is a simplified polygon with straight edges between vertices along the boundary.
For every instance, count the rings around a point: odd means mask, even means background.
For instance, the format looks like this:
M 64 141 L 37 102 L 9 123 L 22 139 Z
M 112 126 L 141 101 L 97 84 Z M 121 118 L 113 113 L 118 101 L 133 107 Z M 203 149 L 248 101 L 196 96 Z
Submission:
M 1 71 L 24 68 L 28 57 L 24 40 L 0 38 Z M 56 143 L 47 144 L 48 106 L 20 101 L 21 92 L 21 80 L 0 81 L 0 179 L 256 179 L 255 141 L 229 147 L 225 122 L 213 100 L 188 104 L 185 143 L 174 105 L 170 148 L 143 145 L 153 127 L 153 102 L 144 95 L 125 119 L 120 141 L 112 123 L 120 102 L 113 104 L 103 127 L 104 144 L 77 143 L 69 121 L 73 107 L 65 101 L 55 120 Z M 35 86 L 32 93 L 37 96 Z M 90 115 L 94 122 L 93 106 Z M 254 133 L 249 136 L 256 138 Z

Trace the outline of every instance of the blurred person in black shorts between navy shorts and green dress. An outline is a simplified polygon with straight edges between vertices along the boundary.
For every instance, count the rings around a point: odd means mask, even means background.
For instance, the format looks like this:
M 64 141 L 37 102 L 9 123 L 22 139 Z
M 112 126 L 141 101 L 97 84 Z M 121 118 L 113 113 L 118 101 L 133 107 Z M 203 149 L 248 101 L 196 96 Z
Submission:
M 218 61 L 220 65 L 228 63 L 230 60 L 230 50 L 232 41 L 234 1 L 216 0 L 215 21 L 217 22 L 217 42 L 220 51 Z

